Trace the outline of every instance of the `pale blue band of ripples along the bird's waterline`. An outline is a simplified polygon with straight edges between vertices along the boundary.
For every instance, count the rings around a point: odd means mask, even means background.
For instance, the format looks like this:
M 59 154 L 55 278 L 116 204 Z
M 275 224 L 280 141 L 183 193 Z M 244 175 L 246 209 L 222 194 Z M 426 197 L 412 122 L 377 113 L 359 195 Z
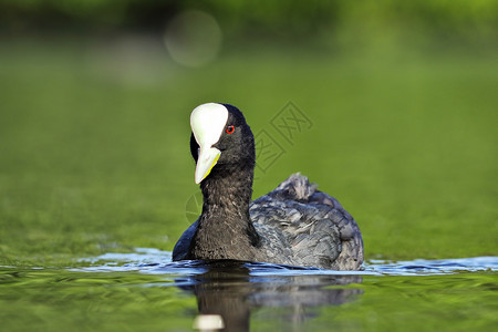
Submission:
M 154 248 L 137 248 L 132 253 L 104 253 L 83 258 L 91 267 L 79 268 L 86 272 L 139 271 L 154 274 L 195 276 L 206 272 L 212 263 L 224 264 L 229 261 L 172 261 L 172 252 Z M 361 271 L 332 271 L 315 268 L 301 268 L 282 264 L 247 262 L 245 268 L 250 276 L 311 276 L 311 274 L 356 274 L 356 276 L 436 276 L 459 272 L 498 271 L 498 257 L 473 257 L 457 259 L 415 259 L 412 261 L 371 260 Z

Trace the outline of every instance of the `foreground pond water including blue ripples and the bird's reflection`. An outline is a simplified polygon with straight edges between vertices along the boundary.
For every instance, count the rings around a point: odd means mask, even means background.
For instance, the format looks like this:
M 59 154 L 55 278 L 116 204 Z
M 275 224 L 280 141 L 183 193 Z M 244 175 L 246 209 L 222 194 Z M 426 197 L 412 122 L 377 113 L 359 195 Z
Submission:
M 0 268 L 4 331 L 491 331 L 498 257 L 344 272 L 180 261 L 137 248 L 69 269 Z M 86 264 L 90 263 L 90 264 Z

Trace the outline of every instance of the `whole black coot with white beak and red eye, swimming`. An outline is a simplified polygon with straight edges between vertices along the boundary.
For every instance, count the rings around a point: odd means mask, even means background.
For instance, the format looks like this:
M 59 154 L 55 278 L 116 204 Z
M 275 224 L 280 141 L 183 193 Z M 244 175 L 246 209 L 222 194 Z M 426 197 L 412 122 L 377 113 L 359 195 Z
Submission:
M 173 260 L 232 259 L 359 270 L 360 229 L 339 201 L 293 174 L 251 201 L 255 138 L 242 113 L 208 103 L 190 115 L 195 180 L 203 212 L 180 237 Z

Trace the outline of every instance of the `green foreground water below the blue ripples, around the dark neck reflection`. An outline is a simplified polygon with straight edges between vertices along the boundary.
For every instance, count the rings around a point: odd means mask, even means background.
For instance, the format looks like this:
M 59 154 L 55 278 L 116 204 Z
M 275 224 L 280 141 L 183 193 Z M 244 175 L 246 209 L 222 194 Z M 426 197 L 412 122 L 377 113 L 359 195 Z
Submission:
M 198 277 L 190 290 L 174 287 L 175 277 L 2 269 L 0 319 L 4 331 L 190 331 L 197 297 L 243 311 L 251 331 L 492 331 L 498 323 L 496 272 L 349 276 L 338 286 L 326 276 L 248 283 L 234 273 Z

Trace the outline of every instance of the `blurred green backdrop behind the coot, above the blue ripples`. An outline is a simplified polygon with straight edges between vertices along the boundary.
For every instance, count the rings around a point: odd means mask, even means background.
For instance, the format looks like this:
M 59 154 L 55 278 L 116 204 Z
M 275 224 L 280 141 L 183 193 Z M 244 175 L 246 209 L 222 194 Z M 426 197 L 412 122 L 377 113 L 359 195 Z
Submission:
M 189 113 L 245 112 L 355 217 L 369 259 L 497 255 L 497 1 L 0 2 L 0 264 L 172 250 Z M 311 128 L 286 141 L 294 103 Z

